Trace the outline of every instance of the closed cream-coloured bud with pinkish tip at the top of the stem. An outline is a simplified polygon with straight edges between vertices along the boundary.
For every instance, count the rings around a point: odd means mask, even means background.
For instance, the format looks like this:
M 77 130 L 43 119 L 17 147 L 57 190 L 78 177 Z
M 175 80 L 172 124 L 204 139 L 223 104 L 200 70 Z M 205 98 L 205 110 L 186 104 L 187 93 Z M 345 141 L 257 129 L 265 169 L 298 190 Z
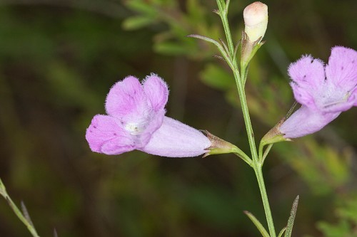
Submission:
M 257 41 L 258 38 L 263 38 L 268 26 L 268 6 L 260 1 L 253 2 L 246 6 L 243 11 L 244 31 L 249 37 L 249 41 Z

